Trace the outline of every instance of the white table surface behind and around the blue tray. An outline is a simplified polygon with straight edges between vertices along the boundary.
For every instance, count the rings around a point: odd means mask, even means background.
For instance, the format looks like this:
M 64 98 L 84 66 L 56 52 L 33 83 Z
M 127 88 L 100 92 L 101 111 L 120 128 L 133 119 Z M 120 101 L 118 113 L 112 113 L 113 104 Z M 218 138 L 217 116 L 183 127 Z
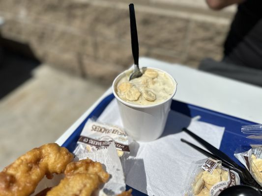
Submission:
M 140 67 L 154 67 L 170 73 L 177 82 L 173 99 L 203 108 L 262 123 L 262 88 L 226 77 L 205 73 L 178 64 L 151 58 L 140 58 Z M 97 104 L 112 93 L 109 88 L 87 111 L 56 141 L 62 145 L 73 131 L 87 118 Z

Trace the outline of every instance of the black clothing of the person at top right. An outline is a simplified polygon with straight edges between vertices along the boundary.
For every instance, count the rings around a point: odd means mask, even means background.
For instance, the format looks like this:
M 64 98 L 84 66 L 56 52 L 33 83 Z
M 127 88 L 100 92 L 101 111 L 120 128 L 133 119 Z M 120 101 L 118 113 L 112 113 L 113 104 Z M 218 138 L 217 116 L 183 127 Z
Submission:
M 262 69 L 262 0 L 246 0 L 238 5 L 224 55 L 235 64 Z

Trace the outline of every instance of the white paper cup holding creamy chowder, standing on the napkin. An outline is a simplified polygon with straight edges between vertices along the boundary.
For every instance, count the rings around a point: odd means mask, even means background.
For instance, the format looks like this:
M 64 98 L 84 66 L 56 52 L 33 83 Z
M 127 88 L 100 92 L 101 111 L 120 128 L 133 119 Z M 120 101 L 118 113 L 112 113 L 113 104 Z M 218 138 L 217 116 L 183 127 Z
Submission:
M 163 70 L 150 68 L 164 72 Z M 128 103 L 116 94 L 118 81 L 125 76 L 125 73 L 120 73 L 113 82 L 113 93 L 117 99 L 120 117 L 126 133 L 134 140 L 141 142 L 149 142 L 159 138 L 163 133 L 167 121 L 168 113 L 172 98 L 176 92 L 176 81 L 167 72 L 174 83 L 174 92 L 169 99 L 156 103 L 154 105 L 135 105 Z

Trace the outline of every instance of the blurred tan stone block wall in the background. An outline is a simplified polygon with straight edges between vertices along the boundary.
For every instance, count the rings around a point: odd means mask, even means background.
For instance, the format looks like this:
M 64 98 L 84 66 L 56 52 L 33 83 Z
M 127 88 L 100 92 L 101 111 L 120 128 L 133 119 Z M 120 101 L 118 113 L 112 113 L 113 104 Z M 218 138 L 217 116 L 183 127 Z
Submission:
M 213 12 L 181 1 L 133 2 L 140 56 L 192 67 L 204 57 L 222 57 L 232 10 Z M 128 4 L 127 0 L 0 0 L 5 20 L 0 34 L 28 44 L 39 60 L 60 70 L 111 82 L 133 63 Z

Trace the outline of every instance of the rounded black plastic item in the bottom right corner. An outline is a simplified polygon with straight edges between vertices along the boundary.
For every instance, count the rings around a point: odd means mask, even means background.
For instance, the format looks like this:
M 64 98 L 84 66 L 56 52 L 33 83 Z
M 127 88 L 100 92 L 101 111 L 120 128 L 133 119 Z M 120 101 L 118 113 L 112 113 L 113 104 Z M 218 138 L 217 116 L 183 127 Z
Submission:
M 219 196 L 262 196 L 262 192 L 252 186 L 236 185 L 223 190 Z

